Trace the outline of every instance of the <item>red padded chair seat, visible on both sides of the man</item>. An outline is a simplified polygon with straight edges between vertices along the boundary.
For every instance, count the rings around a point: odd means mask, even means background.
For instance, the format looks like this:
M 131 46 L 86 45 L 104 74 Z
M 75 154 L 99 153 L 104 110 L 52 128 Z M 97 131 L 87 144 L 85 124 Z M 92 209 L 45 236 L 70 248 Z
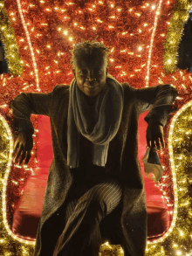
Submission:
M 38 168 L 35 176 L 29 177 L 23 193 L 19 198 L 17 207 L 13 214 L 12 232 L 18 237 L 35 239 L 39 218 L 43 209 L 45 187 L 47 180 L 47 169 L 40 171 Z M 40 175 L 40 173 L 43 173 Z M 147 181 L 147 192 L 153 183 Z M 147 202 L 147 236 L 148 239 L 161 236 L 168 229 L 168 211 L 163 204 L 161 193 L 158 188 L 146 194 Z

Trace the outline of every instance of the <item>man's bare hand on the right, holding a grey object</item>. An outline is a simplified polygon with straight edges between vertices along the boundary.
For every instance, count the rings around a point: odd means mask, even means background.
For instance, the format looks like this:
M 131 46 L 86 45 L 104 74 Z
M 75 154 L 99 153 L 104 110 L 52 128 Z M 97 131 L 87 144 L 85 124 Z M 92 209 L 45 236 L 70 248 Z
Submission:
M 161 150 L 165 147 L 165 142 L 163 138 L 163 127 L 153 121 L 149 121 L 147 127 L 147 147 L 154 148 L 157 147 L 158 150 Z M 160 145 L 161 142 L 161 145 Z

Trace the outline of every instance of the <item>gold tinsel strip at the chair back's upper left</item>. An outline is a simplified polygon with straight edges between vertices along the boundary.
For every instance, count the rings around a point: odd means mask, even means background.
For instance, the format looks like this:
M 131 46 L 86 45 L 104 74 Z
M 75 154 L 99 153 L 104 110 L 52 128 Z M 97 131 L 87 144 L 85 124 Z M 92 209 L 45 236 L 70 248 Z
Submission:
M 16 36 L 10 27 L 10 18 L 4 8 L 4 1 L 0 1 L 0 36 L 4 45 L 4 59 L 8 62 L 10 73 L 21 75 L 24 71 L 24 61 L 20 59 Z

